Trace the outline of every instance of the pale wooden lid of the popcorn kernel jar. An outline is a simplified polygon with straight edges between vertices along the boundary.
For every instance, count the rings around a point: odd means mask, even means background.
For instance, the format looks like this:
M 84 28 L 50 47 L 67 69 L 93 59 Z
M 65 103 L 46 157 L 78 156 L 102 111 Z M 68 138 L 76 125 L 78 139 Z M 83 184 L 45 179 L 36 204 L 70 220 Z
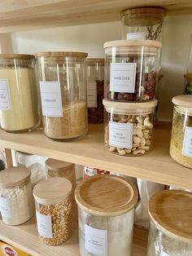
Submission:
M 72 192 L 72 183 L 65 178 L 44 179 L 33 188 L 33 196 L 41 205 L 55 205 L 65 201 Z

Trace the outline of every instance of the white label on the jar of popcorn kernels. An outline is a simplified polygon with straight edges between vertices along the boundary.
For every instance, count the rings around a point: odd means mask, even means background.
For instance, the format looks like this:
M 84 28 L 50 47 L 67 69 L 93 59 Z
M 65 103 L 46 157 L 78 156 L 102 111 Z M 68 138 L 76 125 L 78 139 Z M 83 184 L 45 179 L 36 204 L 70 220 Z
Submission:
M 47 238 L 53 238 L 51 216 L 40 214 L 37 211 L 36 216 L 39 235 Z

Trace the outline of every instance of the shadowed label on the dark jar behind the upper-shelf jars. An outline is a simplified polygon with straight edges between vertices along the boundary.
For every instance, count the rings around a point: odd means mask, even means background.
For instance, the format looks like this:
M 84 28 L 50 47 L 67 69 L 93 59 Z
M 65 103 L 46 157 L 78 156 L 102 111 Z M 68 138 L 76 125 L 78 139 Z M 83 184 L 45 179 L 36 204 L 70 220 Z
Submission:
M 87 83 L 87 107 L 97 108 L 97 82 Z

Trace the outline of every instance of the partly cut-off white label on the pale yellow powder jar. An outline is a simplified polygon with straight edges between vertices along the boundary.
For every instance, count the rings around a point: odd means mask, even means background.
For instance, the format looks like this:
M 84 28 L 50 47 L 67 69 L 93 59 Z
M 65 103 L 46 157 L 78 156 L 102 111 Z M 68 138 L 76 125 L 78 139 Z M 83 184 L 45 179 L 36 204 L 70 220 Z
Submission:
M 8 79 L 0 79 L 0 110 L 11 110 Z

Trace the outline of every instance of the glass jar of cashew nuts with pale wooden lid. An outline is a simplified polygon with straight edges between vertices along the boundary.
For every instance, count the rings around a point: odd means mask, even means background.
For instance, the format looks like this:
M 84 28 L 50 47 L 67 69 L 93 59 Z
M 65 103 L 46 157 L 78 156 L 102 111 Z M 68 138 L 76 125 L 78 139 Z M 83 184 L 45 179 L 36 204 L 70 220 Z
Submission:
M 105 146 L 120 156 L 141 156 L 151 150 L 157 99 L 122 103 L 103 99 Z

